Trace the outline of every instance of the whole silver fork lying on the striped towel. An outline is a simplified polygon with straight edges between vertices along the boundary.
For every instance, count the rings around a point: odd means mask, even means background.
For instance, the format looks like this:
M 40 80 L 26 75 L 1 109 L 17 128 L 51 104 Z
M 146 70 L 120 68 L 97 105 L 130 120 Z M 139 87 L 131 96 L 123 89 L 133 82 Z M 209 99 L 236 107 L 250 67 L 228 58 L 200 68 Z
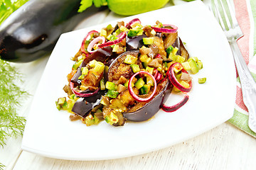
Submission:
M 248 125 L 253 132 L 256 132 L 256 83 L 236 42 L 243 36 L 242 30 L 238 26 L 230 0 L 211 0 L 210 6 L 228 38 L 240 78 L 243 101 L 249 111 Z

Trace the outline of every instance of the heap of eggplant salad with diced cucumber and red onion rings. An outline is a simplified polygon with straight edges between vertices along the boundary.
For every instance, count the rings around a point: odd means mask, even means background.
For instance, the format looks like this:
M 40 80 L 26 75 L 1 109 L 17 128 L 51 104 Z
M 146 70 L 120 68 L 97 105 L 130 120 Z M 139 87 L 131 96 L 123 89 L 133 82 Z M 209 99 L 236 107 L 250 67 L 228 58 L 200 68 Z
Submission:
M 63 88 L 68 97 L 58 98 L 56 106 L 68 111 L 70 120 L 86 125 L 105 120 L 120 126 L 127 120 L 149 120 L 159 109 L 176 111 L 188 101 L 190 74 L 203 68 L 201 60 L 189 56 L 176 26 L 159 21 L 142 26 L 139 18 L 100 32 L 91 30 L 71 60 L 74 64 Z M 204 82 L 206 78 L 198 79 Z M 184 97 L 167 106 L 172 92 Z

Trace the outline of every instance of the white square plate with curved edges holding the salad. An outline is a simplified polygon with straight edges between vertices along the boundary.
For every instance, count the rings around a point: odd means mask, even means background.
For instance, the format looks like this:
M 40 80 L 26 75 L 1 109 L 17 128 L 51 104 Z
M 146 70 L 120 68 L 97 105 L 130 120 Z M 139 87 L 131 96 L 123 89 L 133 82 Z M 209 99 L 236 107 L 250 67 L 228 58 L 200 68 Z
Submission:
M 60 36 L 50 56 L 34 96 L 23 135 L 22 149 L 46 157 L 72 160 L 100 160 L 130 157 L 169 147 L 188 140 L 232 117 L 235 105 L 235 64 L 223 31 L 201 1 L 162 8 L 123 18 L 125 23 L 139 18 L 142 25 L 157 20 L 178 26 L 178 33 L 191 56 L 203 62 L 193 76 L 193 89 L 185 106 L 174 113 L 159 111 L 143 123 L 113 127 L 105 122 L 87 127 L 71 122 L 70 113 L 58 111 L 55 101 L 65 96 L 63 86 L 82 39 L 104 23 Z M 117 21 L 111 22 L 115 26 Z M 207 77 L 198 84 L 199 77 Z M 169 105 L 178 95 L 169 97 Z

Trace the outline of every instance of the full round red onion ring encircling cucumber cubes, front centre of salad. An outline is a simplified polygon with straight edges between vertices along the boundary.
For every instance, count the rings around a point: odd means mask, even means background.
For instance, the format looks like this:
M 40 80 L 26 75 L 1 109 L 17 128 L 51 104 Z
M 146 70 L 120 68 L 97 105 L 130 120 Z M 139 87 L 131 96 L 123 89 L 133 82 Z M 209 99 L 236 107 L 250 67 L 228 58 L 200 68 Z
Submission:
M 134 91 L 132 90 L 132 79 L 134 77 L 136 77 L 138 74 L 147 74 L 149 75 L 153 81 L 154 81 L 154 91 L 153 93 L 148 97 L 148 98 L 140 98 L 139 96 L 137 96 Z M 140 72 L 137 72 L 135 74 L 132 75 L 131 79 L 129 79 L 129 82 L 128 82 L 128 90 L 129 90 L 129 94 L 131 94 L 132 98 L 134 98 L 136 101 L 139 101 L 139 102 L 146 102 L 146 101 L 149 101 L 153 96 L 154 94 L 156 93 L 156 79 L 154 78 L 154 76 L 152 76 L 152 74 L 150 74 L 149 72 L 145 72 L 145 71 L 140 71 Z

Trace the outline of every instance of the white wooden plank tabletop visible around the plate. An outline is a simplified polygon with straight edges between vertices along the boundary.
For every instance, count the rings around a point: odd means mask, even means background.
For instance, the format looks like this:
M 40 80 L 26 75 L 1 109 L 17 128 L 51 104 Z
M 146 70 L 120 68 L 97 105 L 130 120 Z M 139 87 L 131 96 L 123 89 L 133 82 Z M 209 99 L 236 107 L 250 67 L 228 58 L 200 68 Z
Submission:
M 175 1 L 183 4 L 183 1 Z M 170 6 L 168 4 L 167 6 Z M 82 21 L 76 29 L 121 18 L 105 10 Z M 21 108 L 27 116 L 33 94 L 43 74 L 48 56 L 35 62 L 15 64 L 26 76 L 24 87 L 31 96 Z M 156 152 L 105 161 L 68 161 L 41 157 L 21 150 L 21 137 L 11 139 L 0 149 L 0 162 L 6 169 L 255 169 L 256 140 L 223 123 L 191 140 Z

